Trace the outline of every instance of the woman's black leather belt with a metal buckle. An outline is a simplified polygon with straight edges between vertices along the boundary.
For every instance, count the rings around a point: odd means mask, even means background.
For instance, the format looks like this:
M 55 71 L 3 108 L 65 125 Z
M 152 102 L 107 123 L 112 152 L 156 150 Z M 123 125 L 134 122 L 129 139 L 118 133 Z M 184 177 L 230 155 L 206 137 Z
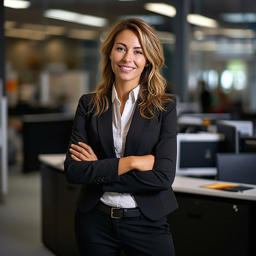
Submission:
M 135 208 L 119 208 L 111 207 L 102 202 L 99 202 L 96 206 L 96 209 L 107 213 L 113 219 L 122 219 L 122 218 L 134 218 L 140 217 L 141 212 L 138 207 Z

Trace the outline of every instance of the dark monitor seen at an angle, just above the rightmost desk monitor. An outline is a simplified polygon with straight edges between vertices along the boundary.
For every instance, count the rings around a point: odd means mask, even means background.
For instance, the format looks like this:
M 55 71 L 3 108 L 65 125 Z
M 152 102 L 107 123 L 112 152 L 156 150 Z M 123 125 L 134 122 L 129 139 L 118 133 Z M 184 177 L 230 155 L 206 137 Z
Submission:
M 217 123 L 217 131 L 225 136 L 221 145 L 221 152 L 239 152 L 239 133 L 234 125 Z

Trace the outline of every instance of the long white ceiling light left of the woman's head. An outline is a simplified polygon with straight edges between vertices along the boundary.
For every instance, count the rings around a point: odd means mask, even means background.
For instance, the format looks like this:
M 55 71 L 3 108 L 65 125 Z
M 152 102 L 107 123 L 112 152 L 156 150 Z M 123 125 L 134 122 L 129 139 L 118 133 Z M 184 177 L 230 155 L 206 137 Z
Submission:
M 77 12 L 70 12 L 65 10 L 59 10 L 59 9 L 49 9 L 44 12 L 44 17 L 51 18 L 51 19 L 57 19 L 57 20 L 63 20 L 63 21 L 69 21 L 69 22 L 75 22 L 87 26 L 93 26 L 93 27 L 105 27 L 107 25 L 107 19 L 96 17 L 93 15 L 84 15 Z

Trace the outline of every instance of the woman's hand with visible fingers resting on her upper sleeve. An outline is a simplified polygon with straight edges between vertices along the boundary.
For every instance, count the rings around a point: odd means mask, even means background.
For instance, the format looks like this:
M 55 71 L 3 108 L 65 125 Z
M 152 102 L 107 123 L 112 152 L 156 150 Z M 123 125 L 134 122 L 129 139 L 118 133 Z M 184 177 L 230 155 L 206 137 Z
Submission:
M 78 145 L 71 144 L 69 149 L 71 158 L 75 161 L 97 161 L 98 158 L 94 154 L 92 148 L 83 142 L 78 142 Z

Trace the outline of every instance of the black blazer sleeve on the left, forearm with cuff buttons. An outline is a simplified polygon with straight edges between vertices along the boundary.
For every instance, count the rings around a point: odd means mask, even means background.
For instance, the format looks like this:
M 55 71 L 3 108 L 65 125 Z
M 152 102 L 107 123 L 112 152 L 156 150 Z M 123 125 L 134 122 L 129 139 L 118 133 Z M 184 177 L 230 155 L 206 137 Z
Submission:
M 103 184 L 105 182 L 119 181 L 119 158 L 106 158 L 99 159 L 98 161 L 80 162 L 71 158 L 69 152 L 71 144 L 78 145 L 78 142 L 89 144 L 86 127 L 90 126 L 90 122 L 92 118 L 94 118 L 87 115 L 90 111 L 90 99 L 90 94 L 83 95 L 79 99 L 76 109 L 74 126 L 64 162 L 64 171 L 67 181 L 74 184 Z M 93 148 L 93 145 L 89 146 Z M 97 155 L 97 152 L 95 154 Z

